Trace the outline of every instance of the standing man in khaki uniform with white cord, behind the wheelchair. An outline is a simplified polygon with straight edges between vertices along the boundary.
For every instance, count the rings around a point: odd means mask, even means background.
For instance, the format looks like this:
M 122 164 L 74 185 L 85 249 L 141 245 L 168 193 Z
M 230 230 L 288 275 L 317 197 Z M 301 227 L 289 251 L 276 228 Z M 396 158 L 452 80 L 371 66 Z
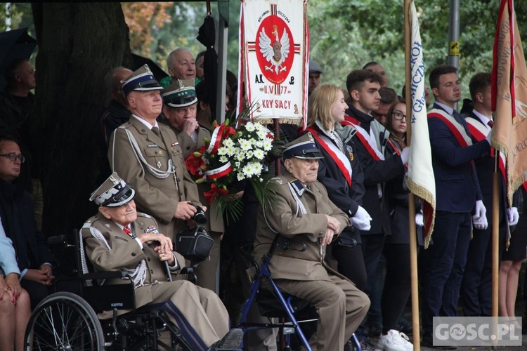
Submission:
M 138 209 L 150 213 L 174 240 L 179 231 L 194 224 L 195 205 L 201 204 L 176 134 L 157 124 L 162 89 L 148 65 L 122 81 L 132 115 L 112 133 L 108 159 L 112 171 L 137 190 Z

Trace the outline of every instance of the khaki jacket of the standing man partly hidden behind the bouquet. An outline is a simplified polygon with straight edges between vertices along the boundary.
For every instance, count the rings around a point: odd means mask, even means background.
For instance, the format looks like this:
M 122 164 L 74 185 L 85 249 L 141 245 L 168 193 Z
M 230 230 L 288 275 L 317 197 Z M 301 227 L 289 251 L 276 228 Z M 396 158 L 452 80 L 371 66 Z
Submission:
M 197 140 L 194 142 L 192 138 L 190 138 L 190 135 L 188 135 L 185 132 L 178 131 L 174 128 L 172 128 L 174 133 L 176 133 L 176 136 L 179 140 L 179 143 L 181 145 L 181 150 L 183 150 L 183 159 L 186 159 L 190 154 L 195 152 L 196 150 L 199 150 L 200 147 L 202 147 L 205 142 L 204 138 L 210 139 L 210 132 L 207 131 L 207 129 L 199 127 L 197 128 Z M 223 224 L 223 216 L 221 216 L 221 213 L 219 213 L 218 206 L 214 205 L 214 202 L 212 204 L 207 204 L 207 199 L 205 199 L 204 192 L 207 192 L 210 190 L 209 185 L 207 183 L 201 183 L 197 185 L 197 192 L 200 195 L 200 202 L 207 206 L 207 211 L 205 212 L 205 217 L 207 217 L 207 224 L 203 225 L 203 227 L 206 230 L 212 231 L 212 232 L 218 232 L 223 233 L 225 231 L 225 225 Z

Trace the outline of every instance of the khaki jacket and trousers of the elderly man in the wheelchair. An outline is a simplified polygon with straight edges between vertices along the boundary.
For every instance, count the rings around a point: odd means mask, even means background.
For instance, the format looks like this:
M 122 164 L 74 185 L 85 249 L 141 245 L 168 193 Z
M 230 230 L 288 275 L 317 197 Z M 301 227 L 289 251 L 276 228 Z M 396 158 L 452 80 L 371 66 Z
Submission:
M 130 224 L 132 234 L 150 232 L 157 227 L 154 218 L 138 213 L 138 218 Z M 95 233 L 95 234 L 94 234 Z M 104 241 L 98 239 L 102 234 Z M 137 240 L 126 234 L 117 224 L 95 216 L 82 227 L 82 237 L 86 247 L 86 256 L 96 271 L 135 270 L 145 263 L 142 282 L 136 284 L 136 307 L 149 303 L 165 303 L 163 309 L 171 322 L 176 324 L 196 350 L 207 350 L 228 331 L 228 312 L 218 296 L 208 289 L 188 281 L 168 282 L 164 264 L 150 246 L 141 248 Z M 184 259 L 178 253 L 178 268 L 171 269 L 174 277 Z M 108 279 L 105 284 L 127 284 L 123 279 Z M 104 316 L 103 316 L 104 317 Z M 111 311 L 107 314 L 111 317 Z

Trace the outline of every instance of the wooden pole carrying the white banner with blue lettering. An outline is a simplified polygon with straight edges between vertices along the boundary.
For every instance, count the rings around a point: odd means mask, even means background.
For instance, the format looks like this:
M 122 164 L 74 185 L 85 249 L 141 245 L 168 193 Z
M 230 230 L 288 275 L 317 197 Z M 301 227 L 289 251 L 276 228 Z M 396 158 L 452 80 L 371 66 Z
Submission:
M 410 69 L 410 40 L 412 29 L 412 18 L 410 16 L 410 0 L 404 2 L 404 21 L 405 21 L 405 95 L 406 95 L 406 142 L 410 146 L 412 141 L 412 95 L 410 90 L 412 72 Z M 415 197 L 408 194 L 408 224 L 410 228 L 410 276 L 412 293 L 412 329 L 414 350 L 421 350 L 421 338 L 419 336 L 419 290 L 417 282 L 417 230 L 415 227 Z

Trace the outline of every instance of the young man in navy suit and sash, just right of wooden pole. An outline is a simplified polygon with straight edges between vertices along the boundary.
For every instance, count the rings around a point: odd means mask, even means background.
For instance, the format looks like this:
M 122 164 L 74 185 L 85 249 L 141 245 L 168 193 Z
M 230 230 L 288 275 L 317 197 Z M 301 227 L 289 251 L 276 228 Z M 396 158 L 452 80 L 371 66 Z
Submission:
M 422 342 L 432 347 L 433 317 L 457 315 L 472 223 L 476 229 L 488 226 L 472 161 L 490 154 L 490 137 L 486 135 L 486 139 L 473 143 L 467 122 L 455 110 L 461 98 L 455 67 L 441 65 L 432 69 L 430 86 L 436 99 L 428 113 L 436 220 L 432 244 L 422 251 L 421 283 Z

